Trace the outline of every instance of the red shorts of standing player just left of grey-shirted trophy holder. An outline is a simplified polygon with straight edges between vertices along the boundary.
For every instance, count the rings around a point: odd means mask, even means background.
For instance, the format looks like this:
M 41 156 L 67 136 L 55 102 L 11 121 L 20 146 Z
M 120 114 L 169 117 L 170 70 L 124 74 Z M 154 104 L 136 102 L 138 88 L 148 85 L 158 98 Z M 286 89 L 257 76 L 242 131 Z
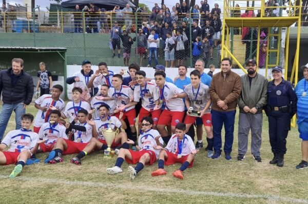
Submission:
M 184 112 L 181 111 L 169 111 L 163 110 L 161 113 L 157 125 L 165 125 L 165 126 L 176 126 L 178 123 L 182 122 L 184 117 Z

